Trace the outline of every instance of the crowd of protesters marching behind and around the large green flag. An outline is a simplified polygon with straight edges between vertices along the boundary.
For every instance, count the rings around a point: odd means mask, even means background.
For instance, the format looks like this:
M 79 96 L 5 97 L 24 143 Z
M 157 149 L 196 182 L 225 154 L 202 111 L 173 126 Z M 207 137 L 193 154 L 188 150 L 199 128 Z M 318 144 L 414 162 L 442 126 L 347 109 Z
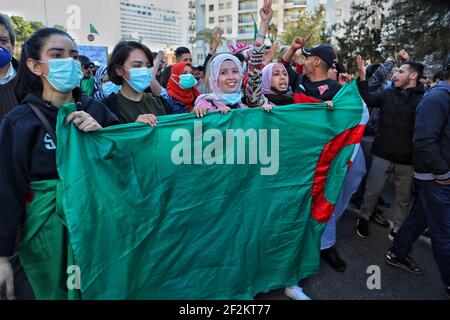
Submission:
M 391 228 L 386 262 L 392 266 L 422 273 L 410 252 L 427 232 L 450 296 L 450 55 L 430 80 L 424 65 L 405 50 L 369 65 L 357 56 L 356 76 L 347 72 L 334 47 L 309 48 L 311 34 L 295 37 L 274 59 L 277 45 L 268 47 L 265 41 L 270 0 L 260 16 L 254 43 L 233 44 L 229 53 L 216 54 L 221 39 L 216 31 L 202 66 L 192 64 L 185 47 L 175 51 L 176 63 L 167 66 L 164 52 L 122 41 L 108 64 L 96 68 L 89 57 L 78 54 L 69 34 L 53 28 L 29 37 L 17 61 L 12 56 L 15 32 L 0 15 L 0 289 L 5 297 L 33 297 L 17 258 L 18 230 L 30 182 L 57 177 L 54 131 L 61 106 L 76 107 L 67 122 L 83 132 L 133 122 L 157 126 L 159 117 L 171 114 L 202 117 L 241 108 L 271 112 L 278 106 L 315 102 L 332 108 L 333 97 L 354 79 L 370 118 L 322 237 L 321 256 L 337 272 L 345 271 L 335 246 L 336 220 L 351 201 L 360 207 L 358 236 L 370 237 L 370 221 Z M 378 208 L 390 205 L 381 193 L 391 177 L 392 224 Z M 285 293 L 295 300 L 309 299 L 297 284 Z

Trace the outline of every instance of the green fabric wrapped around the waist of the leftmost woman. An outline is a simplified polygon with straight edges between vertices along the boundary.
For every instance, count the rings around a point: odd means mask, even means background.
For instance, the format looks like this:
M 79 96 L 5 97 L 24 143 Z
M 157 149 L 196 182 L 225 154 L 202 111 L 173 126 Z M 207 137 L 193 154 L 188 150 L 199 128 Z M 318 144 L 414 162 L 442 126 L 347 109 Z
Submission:
M 61 205 L 59 180 L 32 181 L 20 245 L 20 262 L 37 300 L 79 299 L 68 289 L 67 270 L 74 266 L 72 248 Z

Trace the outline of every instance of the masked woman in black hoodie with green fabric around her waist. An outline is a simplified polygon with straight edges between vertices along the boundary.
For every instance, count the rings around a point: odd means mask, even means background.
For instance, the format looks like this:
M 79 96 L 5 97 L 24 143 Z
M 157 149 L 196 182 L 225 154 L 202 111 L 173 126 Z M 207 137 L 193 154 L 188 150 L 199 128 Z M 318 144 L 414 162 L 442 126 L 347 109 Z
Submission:
M 9 299 L 14 298 L 14 287 L 6 257 L 17 250 L 19 227 L 23 230 L 20 261 L 36 298 L 67 298 L 67 288 L 61 285 L 69 263 L 64 215 L 57 209 L 46 211 L 56 208 L 60 185 L 58 111 L 76 109 L 66 123 L 73 122 L 83 132 L 119 124 L 104 105 L 81 95 L 78 86 L 83 75 L 77 58 L 76 45 L 64 31 L 36 31 L 22 48 L 16 84 L 21 105 L 0 120 L 0 287 L 6 287 Z

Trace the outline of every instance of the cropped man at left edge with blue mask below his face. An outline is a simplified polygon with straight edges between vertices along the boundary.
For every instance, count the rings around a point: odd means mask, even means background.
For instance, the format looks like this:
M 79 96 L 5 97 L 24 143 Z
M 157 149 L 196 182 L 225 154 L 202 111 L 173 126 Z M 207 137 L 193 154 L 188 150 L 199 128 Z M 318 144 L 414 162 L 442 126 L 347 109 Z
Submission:
M 12 56 L 15 40 L 11 23 L 0 14 L 0 118 L 18 105 L 14 89 L 19 64 Z

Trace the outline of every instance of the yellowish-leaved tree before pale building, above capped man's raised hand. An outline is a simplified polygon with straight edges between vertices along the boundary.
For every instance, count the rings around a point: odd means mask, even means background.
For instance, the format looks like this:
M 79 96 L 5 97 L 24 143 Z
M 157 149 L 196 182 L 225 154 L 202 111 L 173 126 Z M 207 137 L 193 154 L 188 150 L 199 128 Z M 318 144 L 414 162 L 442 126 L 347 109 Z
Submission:
M 285 31 L 280 35 L 280 41 L 284 45 L 290 45 L 295 37 L 306 37 L 310 32 L 313 36 L 309 45 L 328 42 L 324 5 L 320 5 L 312 14 L 303 14 L 297 21 L 288 23 Z

